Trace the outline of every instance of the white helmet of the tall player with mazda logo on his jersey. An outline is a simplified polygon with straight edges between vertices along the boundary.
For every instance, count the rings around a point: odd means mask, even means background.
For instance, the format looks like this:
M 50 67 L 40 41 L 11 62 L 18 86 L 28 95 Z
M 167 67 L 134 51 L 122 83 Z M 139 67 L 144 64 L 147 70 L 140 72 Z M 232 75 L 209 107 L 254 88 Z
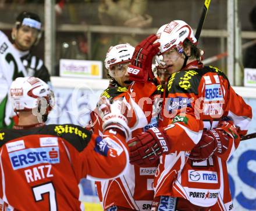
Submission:
M 173 48 L 177 48 L 178 52 L 182 53 L 183 48 L 180 45 L 186 39 L 189 39 L 191 43 L 197 43 L 192 28 L 183 20 L 173 20 L 161 26 L 157 35 L 159 37 L 158 42 L 160 43 L 159 54 L 163 54 Z

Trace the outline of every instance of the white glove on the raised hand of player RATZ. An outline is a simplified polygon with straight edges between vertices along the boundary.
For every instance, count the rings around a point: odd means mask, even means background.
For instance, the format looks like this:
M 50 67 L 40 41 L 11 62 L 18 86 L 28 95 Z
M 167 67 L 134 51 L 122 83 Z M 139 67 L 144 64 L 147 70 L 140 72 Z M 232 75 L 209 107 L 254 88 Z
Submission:
M 102 118 L 103 131 L 116 128 L 125 133 L 126 139 L 130 137 L 130 128 L 127 125 L 127 119 L 122 115 L 125 104 L 116 100 L 112 104 L 109 103 L 105 96 L 101 97 L 98 102 L 99 115 Z

